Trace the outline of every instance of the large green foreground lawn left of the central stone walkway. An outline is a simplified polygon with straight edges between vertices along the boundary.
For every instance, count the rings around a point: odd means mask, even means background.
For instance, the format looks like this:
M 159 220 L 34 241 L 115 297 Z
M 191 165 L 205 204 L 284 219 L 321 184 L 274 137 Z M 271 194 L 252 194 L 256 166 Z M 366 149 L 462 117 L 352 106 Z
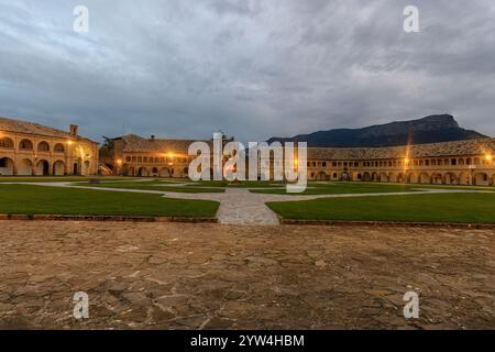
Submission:
M 215 217 L 219 204 L 124 191 L 0 184 L 0 213 Z

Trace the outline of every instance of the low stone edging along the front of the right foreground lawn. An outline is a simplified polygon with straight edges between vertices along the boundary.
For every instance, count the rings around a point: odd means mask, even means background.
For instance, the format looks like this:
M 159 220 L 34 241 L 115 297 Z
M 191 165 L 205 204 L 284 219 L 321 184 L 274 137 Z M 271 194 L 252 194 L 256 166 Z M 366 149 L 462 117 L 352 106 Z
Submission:
M 495 223 L 463 222 L 407 222 L 407 221 L 366 221 L 366 220 L 304 220 L 278 217 L 280 224 L 299 226 L 338 226 L 338 227 L 375 227 L 375 228 L 449 228 L 495 230 Z

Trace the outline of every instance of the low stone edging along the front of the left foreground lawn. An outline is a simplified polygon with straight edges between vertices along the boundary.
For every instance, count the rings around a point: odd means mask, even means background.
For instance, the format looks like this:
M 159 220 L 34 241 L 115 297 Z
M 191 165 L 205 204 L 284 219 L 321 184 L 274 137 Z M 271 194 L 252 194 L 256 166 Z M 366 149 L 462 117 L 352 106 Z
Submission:
M 0 215 L 0 220 L 31 221 L 118 221 L 118 222 L 191 222 L 218 223 L 209 217 L 131 217 L 131 216 L 68 216 L 68 215 Z

